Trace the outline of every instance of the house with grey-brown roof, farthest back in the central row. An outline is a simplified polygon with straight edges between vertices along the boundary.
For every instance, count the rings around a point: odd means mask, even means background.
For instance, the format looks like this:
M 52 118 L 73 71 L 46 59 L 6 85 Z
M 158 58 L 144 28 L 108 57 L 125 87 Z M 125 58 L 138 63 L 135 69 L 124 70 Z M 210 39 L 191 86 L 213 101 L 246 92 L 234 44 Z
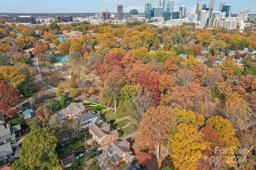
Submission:
M 58 116 L 59 120 L 63 120 L 67 117 L 76 118 L 84 111 L 84 108 L 85 107 L 82 102 L 71 103 L 67 108 L 63 108 L 60 111 L 55 112 L 55 114 Z

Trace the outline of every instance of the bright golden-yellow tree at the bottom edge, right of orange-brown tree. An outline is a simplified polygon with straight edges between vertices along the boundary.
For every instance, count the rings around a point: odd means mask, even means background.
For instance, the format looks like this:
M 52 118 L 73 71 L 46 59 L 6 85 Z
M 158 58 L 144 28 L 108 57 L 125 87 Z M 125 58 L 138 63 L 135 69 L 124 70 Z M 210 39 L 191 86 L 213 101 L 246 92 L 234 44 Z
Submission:
M 181 123 L 177 133 L 171 139 L 172 159 L 177 169 L 196 169 L 202 152 L 209 149 L 210 142 L 203 139 L 203 134 L 198 132 L 193 125 Z

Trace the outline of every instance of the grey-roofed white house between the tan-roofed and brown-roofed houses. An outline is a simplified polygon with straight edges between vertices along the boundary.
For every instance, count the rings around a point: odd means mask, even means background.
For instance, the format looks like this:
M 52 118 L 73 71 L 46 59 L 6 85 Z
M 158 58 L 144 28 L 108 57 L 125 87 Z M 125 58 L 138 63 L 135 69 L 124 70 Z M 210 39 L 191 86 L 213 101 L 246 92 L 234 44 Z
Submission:
M 95 111 L 89 111 L 85 114 L 78 115 L 77 121 L 79 122 L 81 129 L 89 128 L 94 123 L 104 123 L 100 114 L 98 112 L 96 113 Z

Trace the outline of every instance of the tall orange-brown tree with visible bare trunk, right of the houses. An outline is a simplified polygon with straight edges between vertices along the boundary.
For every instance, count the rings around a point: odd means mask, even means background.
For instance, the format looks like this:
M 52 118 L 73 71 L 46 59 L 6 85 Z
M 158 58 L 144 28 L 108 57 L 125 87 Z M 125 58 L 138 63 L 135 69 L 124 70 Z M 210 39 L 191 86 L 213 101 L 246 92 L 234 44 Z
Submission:
M 175 128 L 175 118 L 171 108 L 165 106 L 151 107 L 143 115 L 139 125 L 140 145 L 143 148 L 155 148 L 159 159 L 160 146 L 166 140 L 172 128 Z

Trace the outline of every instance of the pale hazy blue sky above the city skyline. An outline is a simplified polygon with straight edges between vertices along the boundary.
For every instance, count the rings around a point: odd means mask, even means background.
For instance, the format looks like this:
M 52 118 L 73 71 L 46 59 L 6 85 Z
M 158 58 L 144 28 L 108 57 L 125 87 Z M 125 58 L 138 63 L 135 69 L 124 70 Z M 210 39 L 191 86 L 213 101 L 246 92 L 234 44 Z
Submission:
M 186 5 L 187 12 L 196 5 L 196 0 L 174 0 L 175 6 Z M 203 4 L 209 6 L 210 0 L 203 0 Z M 132 8 L 144 12 L 146 0 L 119 0 L 124 5 L 124 12 Z M 158 0 L 151 0 L 153 6 L 158 5 Z M 219 10 L 220 2 L 226 2 L 231 6 L 232 13 L 250 10 L 256 13 L 255 0 L 215 0 L 215 10 Z M 102 12 L 108 10 L 116 12 L 117 0 L 0 0 L 0 13 L 86 13 Z

